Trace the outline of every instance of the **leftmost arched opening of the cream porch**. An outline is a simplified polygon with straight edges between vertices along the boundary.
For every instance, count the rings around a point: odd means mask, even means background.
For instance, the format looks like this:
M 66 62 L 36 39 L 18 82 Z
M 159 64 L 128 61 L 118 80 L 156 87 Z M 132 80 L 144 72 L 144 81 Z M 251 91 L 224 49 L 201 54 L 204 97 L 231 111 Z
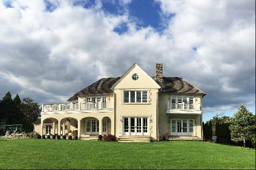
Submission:
M 56 118 L 46 118 L 42 121 L 42 135 L 58 133 L 58 120 Z

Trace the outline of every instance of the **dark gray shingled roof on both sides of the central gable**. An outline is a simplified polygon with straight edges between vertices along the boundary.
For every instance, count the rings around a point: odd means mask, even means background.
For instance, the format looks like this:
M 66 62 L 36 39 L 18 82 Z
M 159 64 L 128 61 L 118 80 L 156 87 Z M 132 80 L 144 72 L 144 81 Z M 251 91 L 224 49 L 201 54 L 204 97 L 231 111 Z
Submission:
M 92 85 L 89 85 L 80 92 L 74 94 L 73 97 L 69 98 L 67 101 L 77 100 L 77 95 L 88 95 L 88 94 L 103 94 L 103 93 L 113 93 L 110 89 L 112 85 L 119 79 L 117 78 L 101 78 Z M 155 80 L 155 77 L 152 77 Z M 191 94 L 203 94 L 204 92 L 197 89 L 195 86 L 188 83 L 183 78 L 178 77 L 163 77 L 163 83 L 159 83 L 163 93 L 191 93 Z

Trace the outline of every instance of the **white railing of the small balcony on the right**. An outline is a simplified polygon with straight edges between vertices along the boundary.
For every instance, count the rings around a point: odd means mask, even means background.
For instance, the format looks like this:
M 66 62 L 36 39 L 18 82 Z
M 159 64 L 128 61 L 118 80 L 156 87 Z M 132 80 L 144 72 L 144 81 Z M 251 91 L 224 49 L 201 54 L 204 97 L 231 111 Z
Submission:
M 200 104 L 170 103 L 167 102 L 167 110 L 201 111 Z

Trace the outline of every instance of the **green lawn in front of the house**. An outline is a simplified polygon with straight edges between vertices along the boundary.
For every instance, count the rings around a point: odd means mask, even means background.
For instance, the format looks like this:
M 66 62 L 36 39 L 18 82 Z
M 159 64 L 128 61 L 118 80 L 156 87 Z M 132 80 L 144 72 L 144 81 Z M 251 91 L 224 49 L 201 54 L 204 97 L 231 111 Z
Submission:
M 255 169 L 255 150 L 202 141 L 0 140 L 0 169 Z

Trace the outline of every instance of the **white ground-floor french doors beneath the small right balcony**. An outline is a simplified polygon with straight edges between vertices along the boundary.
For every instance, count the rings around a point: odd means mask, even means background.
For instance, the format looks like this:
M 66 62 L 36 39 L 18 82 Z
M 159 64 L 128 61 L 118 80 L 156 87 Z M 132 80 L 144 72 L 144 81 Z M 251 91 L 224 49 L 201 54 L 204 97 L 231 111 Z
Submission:
M 194 135 L 194 119 L 171 119 L 171 135 Z

